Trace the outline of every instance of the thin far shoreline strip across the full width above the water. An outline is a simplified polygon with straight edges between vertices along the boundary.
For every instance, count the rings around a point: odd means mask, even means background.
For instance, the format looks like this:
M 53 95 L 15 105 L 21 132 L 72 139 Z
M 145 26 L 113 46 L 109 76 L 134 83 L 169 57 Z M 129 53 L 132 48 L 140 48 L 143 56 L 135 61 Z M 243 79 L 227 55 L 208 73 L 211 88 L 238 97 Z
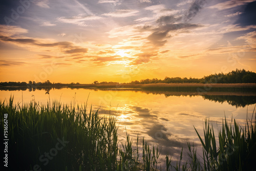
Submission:
M 114 90 L 146 90 L 146 91 L 169 91 L 169 92 L 256 92 L 256 83 L 150 83 L 150 84 L 50 84 L 49 86 L 40 86 L 36 84 L 27 84 L 26 86 L 0 86 L 0 90 L 27 90 L 27 89 L 114 89 Z

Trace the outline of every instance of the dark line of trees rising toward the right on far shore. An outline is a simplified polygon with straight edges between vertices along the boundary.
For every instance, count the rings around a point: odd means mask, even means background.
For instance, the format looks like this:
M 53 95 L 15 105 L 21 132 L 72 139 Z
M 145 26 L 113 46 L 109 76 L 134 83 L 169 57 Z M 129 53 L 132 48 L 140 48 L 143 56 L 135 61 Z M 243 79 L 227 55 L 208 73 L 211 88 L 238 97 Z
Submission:
M 140 81 L 132 81 L 132 84 L 148 84 L 148 83 L 256 83 L 256 73 L 245 70 L 231 71 L 227 74 L 211 74 L 203 78 L 181 78 L 181 77 L 165 77 L 163 80 L 142 79 Z

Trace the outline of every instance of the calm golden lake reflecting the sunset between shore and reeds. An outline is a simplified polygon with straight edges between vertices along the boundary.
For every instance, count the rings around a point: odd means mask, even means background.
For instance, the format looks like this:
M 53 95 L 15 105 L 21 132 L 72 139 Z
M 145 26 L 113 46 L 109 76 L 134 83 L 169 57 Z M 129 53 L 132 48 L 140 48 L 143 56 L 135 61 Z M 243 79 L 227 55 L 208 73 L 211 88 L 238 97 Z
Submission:
M 181 147 L 187 147 L 187 141 L 200 146 L 199 138 L 193 126 L 203 135 L 205 119 L 215 127 L 215 134 L 221 128 L 222 119 L 236 119 L 242 125 L 251 118 L 255 106 L 255 93 L 208 92 L 161 92 L 140 89 L 52 89 L 7 91 L 2 90 L 3 102 L 14 96 L 16 103 L 28 103 L 31 100 L 47 104 L 50 100 L 62 104 L 74 105 L 88 103 L 94 111 L 99 109 L 101 116 L 117 117 L 120 140 L 125 133 L 136 141 L 137 135 L 145 137 L 151 145 L 162 149 L 161 154 L 170 154 L 175 160 Z M 198 148 L 199 151 L 201 149 Z

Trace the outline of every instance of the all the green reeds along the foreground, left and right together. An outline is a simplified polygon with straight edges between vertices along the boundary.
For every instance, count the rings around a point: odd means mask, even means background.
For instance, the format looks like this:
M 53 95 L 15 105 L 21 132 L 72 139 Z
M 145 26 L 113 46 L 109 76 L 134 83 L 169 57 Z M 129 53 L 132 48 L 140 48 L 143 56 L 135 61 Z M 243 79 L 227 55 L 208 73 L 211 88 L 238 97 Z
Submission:
M 13 104 L 0 102 L 1 118 L 8 114 L 8 161 L 10 170 L 253 170 L 256 162 L 255 120 L 241 127 L 236 120 L 223 120 L 215 137 L 205 121 L 203 146 L 199 157 L 196 147 L 188 142 L 188 157 L 174 164 L 170 156 L 161 163 L 160 150 L 139 137 L 134 144 L 129 134 L 118 140 L 117 119 L 100 117 L 98 111 L 86 110 L 86 104 L 67 106 Z M 4 126 L 1 125 L 1 133 Z M 3 135 L 2 135 L 3 136 Z M 4 137 L 2 137 L 4 139 Z M 59 142 L 65 141 L 63 146 Z M 217 141 L 218 140 L 218 141 Z M 217 145 L 219 142 L 219 145 Z M 56 146 L 58 144 L 58 146 Z M 139 147 L 142 145 L 141 147 Z M 61 149 L 57 147 L 62 146 Z M 50 155 L 50 158 L 47 157 Z M 48 162 L 46 160 L 48 158 Z M 161 165 L 160 165 L 161 164 Z M 161 169 L 161 167 L 163 167 Z M 39 170 L 39 169 L 38 169 Z

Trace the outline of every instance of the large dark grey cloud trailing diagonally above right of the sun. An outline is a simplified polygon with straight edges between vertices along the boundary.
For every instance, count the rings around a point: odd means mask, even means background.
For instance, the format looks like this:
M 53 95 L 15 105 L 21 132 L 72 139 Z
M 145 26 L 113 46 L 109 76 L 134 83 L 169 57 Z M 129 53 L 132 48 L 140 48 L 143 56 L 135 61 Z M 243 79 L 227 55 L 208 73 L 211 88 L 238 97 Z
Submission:
M 170 33 L 171 31 L 181 30 L 185 32 L 189 29 L 202 27 L 202 25 L 190 24 L 187 22 L 191 18 L 195 17 L 195 15 L 200 11 L 200 9 L 203 7 L 204 4 L 205 4 L 205 1 L 196 0 L 190 6 L 190 8 L 188 9 L 188 12 L 184 16 L 175 16 L 175 15 L 160 16 L 156 20 L 156 23 L 159 24 L 157 28 L 152 26 L 146 26 L 146 25 L 137 27 L 138 31 L 153 31 L 149 36 L 146 37 L 148 42 L 145 43 L 144 47 L 148 47 L 148 46 L 153 46 L 154 48 L 163 47 L 167 42 L 167 38 L 171 37 L 171 33 Z M 127 48 L 131 49 L 133 47 L 127 47 Z M 153 51 L 156 51 L 156 50 L 157 49 L 154 49 Z M 166 53 L 166 52 L 168 52 L 168 50 L 162 51 L 160 53 Z M 131 64 L 140 65 L 141 63 L 149 62 L 152 56 L 157 56 L 157 55 L 158 55 L 157 53 L 155 54 L 152 51 L 136 54 L 134 56 L 138 56 L 138 57 Z

